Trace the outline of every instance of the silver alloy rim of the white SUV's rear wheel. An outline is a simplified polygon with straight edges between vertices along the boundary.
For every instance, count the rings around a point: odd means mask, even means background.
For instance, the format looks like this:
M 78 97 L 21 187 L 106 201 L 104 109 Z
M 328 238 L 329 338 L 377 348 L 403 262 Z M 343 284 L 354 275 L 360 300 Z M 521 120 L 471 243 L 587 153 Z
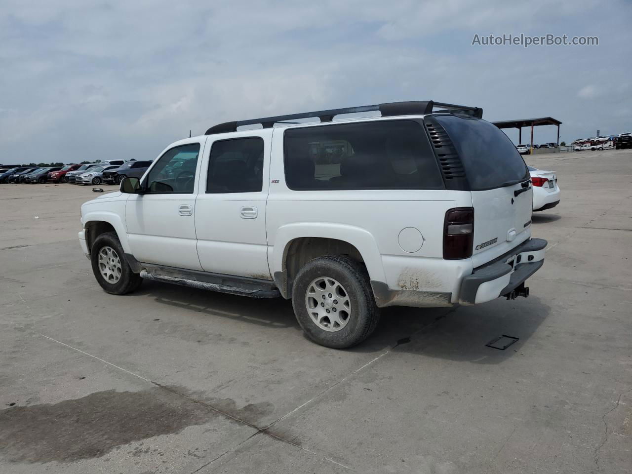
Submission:
M 305 307 L 314 324 L 323 331 L 340 331 L 351 319 L 349 294 L 331 277 L 318 277 L 308 284 Z

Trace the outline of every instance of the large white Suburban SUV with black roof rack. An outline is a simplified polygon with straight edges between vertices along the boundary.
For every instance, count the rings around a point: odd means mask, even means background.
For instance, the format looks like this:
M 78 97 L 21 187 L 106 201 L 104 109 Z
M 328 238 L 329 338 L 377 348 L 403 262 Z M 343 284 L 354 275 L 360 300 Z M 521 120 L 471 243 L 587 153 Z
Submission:
M 367 111 L 381 116 L 333 120 Z M 529 172 L 481 117 L 416 101 L 222 123 L 83 204 L 80 242 L 108 293 L 147 278 L 291 298 L 332 348 L 365 339 L 382 307 L 528 296 L 547 245 Z

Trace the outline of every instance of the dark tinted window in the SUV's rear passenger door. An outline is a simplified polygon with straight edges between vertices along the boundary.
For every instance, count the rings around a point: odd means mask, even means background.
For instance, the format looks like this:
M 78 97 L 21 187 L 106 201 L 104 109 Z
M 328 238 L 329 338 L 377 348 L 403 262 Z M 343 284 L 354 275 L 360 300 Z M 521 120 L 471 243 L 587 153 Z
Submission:
M 264 140 L 235 138 L 213 143 L 210 149 L 207 193 L 261 191 L 264 179 Z

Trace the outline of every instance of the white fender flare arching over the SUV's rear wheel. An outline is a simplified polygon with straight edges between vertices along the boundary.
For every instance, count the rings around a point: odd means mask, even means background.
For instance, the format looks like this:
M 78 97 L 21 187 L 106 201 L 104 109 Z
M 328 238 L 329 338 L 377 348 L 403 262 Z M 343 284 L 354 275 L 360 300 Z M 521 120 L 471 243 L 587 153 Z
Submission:
M 370 279 L 372 281 L 386 281 L 382 255 L 373 234 L 367 229 L 334 222 L 293 222 L 277 229 L 270 256 L 272 275 L 284 274 L 285 261 L 291 241 L 303 237 L 336 239 L 355 246 L 362 255 Z M 277 281 L 277 284 L 279 283 Z

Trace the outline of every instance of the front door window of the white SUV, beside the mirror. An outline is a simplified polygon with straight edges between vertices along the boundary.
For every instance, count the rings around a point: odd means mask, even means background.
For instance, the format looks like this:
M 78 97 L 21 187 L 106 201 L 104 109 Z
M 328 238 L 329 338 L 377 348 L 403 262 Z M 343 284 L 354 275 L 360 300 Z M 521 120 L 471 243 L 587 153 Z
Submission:
M 149 193 L 192 194 L 200 143 L 167 150 L 147 176 Z

